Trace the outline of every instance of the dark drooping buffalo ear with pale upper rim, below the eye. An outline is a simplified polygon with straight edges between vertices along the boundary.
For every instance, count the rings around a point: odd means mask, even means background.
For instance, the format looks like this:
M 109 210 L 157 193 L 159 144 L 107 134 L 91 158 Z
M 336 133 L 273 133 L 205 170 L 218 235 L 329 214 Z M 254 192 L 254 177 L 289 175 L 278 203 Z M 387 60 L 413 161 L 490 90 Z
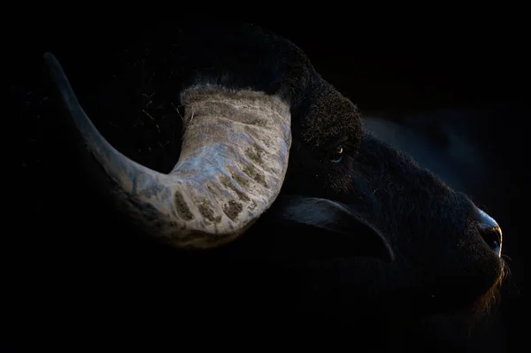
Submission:
M 382 234 L 342 203 L 281 195 L 268 212 L 269 236 L 278 239 L 288 257 L 375 257 L 385 263 L 394 259 Z

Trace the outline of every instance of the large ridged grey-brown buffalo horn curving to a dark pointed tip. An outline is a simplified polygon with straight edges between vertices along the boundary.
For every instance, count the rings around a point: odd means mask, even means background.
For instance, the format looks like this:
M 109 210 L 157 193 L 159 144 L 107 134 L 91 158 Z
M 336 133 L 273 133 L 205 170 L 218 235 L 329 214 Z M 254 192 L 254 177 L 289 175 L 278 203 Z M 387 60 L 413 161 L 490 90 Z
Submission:
M 291 144 L 289 104 L 256 91 L 213 86 L 181 94 L 181 157 L 169 174 L 119 153 L 81 108 L 52 54 L 44 54 L 65 111 L 115 188 L 120 209 L 145 230 L 180 248 L 230 242 L 278 196 Z

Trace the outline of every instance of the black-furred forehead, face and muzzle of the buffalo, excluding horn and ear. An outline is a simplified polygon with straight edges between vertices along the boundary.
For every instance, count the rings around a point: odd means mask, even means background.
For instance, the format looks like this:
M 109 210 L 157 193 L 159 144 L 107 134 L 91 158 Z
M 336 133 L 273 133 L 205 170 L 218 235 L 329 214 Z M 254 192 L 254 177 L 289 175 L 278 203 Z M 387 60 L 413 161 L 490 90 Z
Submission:
M 291 102 L 293 146 L 282 192 L 348 203 L 397 254 L 389 268 L 374 262 L 375 272 L 351 276 L 354 293 L 369 293 L 366 282 L 372 280 L 383 293 L 396 291 L 394 296 L 414 295 L 427 302 L 436 298 L 433 302 L 452 306 L 470 303 L 497 282 L 500 261 L 481 241 L 473 203 L 411 158 L 362 134 L 358 108 L 324 81 L 291 42 L 257 27 L 239 27 L 194 36 L 181 52 L 186 60 L 174 64 L 183 73 L 181 87 L 199 82 L 252 88 Z M 345 156 L 341 163 L 330 163 L 327 152 L 342 137 L 348 138 L 341 143 Z M 364 267 L 371 261 L 364 260 Z M 342 258 L 341 263 L 349 261 Z M 330 266 L 320 280 L 340 271 Z M 407 282 L 417 288 L 409 292 L 403 288 Z

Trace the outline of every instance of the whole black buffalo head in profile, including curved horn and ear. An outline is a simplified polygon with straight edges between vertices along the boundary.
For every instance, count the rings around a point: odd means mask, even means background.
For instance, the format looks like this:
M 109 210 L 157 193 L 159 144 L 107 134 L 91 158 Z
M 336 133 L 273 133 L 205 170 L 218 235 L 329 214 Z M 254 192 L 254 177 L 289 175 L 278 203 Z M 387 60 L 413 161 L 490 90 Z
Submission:
M 365 131 L 357 106 L 293 43 L 257 27 L 182 43 L 169 88 L 185 107 L 181 157 L 168 174 L 106 142 L 57 59 L 45 59 L 95 180 L 145 233 L 280 268 L 326 311 L 360 297 L 441 310 L 493 296 L 496 221 Z

